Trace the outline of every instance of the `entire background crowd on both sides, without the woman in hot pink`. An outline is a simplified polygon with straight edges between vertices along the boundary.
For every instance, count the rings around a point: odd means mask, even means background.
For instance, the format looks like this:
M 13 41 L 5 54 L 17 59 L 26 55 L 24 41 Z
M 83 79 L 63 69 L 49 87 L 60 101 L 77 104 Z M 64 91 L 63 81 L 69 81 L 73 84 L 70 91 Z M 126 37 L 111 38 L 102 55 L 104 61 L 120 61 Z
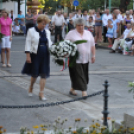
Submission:
M 12 19 L 13 36 L 20 32 L 26 35 L 28 29 L 37 24 L 36 20 L 39 14 L 43 14 L 43 10 L 37 13 L 37 11 L 31 12 L 31 9 L 28 9 L 26 16 L 20 11 L 16 17 L 13 10 L 11 10 L 9 17 Z M 85 20 L 85 29 L 93 34 L 96 46 L 99 43 L 108 42 L 108 47 L 112 48 L 110 53 L 115 53 L 116 50 L 118 50 L 119 53 L 129 54 L 128 52 L 130 52 L 131 55 L 133 55 L 133 36 L 129 39 L 126 39 L 128 36 L 124 36 L 123 39 L 125 41 L 122 43 L 124 45 L 117 45 L 116 49 L 113 47 L 114 44 L 116 44 L 114 42 L 117 42 L 117 40 L 119 42 L 120 37 L 122 37 L 121 35 L 127 29 L 128 23 L 132 29 L 134 23 L 133 10 L 127 10 L 126 13 L 121 13 L 119 9 L 114 9 L 112 13 L 110 13 L 109 9 L 103 12 L 101 12 L 100 9 L 97 9 L 97 11 L 92 9 L 89 11 L 83 10 L 83 12 L 78 10 L 77 12 L 71 12 L 69 14 L 62 13 L 61 10 L 58 10 L 52 16 L 51 22 L 45 27 L 49 29 L 51 33 L 55 34 L 55 43 L 57 40 L 60 41 L 64 39 L 65 35 L 75 28 L 74 21 L 76 18 L 83 18 Z

